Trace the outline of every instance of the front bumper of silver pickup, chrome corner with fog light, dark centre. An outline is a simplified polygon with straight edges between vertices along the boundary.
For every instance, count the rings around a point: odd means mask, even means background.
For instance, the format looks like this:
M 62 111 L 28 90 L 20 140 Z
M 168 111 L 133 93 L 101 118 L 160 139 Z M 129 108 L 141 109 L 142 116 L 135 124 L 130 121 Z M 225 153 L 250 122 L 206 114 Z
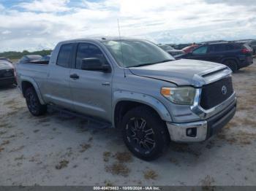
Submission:
M 221 112 L 197 122 L 167 122 L 170 139 L 177 142 L 199 142 L 213 136 L 223 128 L 236 113 L 236 98 Z M 189 131 L 192 134 L 189 135 Z

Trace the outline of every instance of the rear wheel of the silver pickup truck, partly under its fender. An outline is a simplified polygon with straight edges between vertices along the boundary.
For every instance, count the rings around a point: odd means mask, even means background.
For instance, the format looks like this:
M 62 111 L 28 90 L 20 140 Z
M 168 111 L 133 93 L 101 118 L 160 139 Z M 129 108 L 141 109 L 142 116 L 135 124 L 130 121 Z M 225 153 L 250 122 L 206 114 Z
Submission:
M 35 117 L 39 117 L 47 112 L 47 106 L 40 104 L 37 93 L 33 87 L 26 89 L 25 98 L 29 112 L 31 112 Z

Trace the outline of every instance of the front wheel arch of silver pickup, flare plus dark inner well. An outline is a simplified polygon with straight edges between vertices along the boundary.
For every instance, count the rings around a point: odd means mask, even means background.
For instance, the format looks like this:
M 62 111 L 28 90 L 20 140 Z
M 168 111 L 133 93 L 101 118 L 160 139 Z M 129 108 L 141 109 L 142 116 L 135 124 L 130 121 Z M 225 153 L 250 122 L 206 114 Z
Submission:
M 164 121 L 171 122 L 170 113 L 165 106 L 156 98 L 143 93 L 134 93 L 129 91 L 118 91 L 113 94 L 113 112 L 112 123 L 113 127 L 118 128 L 124 114 L 136 106 L 148 106 L 153 109 L 159 117 Z

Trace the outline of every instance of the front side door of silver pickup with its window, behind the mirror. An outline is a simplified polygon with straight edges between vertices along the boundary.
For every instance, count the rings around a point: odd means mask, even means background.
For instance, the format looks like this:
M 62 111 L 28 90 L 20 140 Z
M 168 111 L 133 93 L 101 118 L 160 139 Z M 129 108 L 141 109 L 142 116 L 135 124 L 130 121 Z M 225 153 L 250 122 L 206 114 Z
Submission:
M 113 72 L 82 70 L 84 58 L 99 58 L 109 64 L 97 45 L 78 44 L 75 69 L 70 71 L 70 88 L 75 111 L 110 121 Z

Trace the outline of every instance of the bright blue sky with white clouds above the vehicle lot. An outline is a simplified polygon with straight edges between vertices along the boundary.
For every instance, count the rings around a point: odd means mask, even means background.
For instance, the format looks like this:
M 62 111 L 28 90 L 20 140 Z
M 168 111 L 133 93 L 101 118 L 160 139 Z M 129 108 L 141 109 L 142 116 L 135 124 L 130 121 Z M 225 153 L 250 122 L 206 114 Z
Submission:
M 255 0 L 0 0 L 0 52 L 66 39 L 134 36 L 157 43 L 256 39 Z

